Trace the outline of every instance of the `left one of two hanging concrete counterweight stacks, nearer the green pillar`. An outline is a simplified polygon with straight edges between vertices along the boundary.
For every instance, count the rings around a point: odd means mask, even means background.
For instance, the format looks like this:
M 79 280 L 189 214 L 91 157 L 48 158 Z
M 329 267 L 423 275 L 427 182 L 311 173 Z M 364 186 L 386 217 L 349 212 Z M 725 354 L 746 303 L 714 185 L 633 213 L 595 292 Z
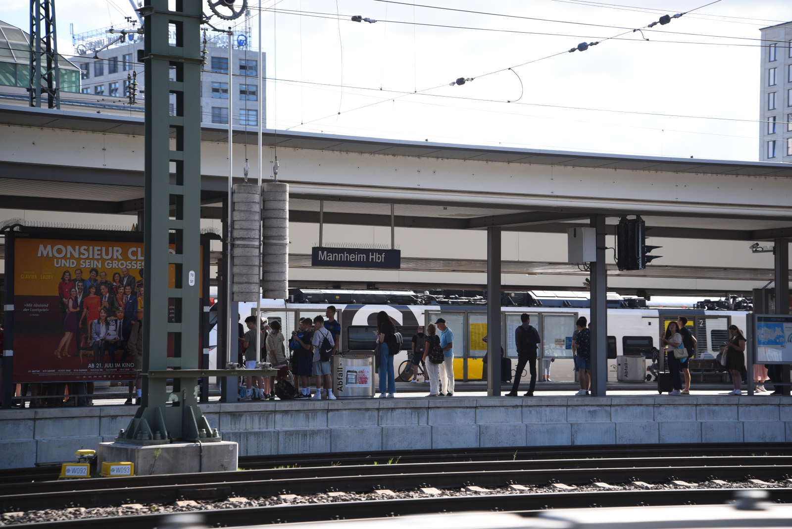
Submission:
M 232 202 L 231 300 L 258 301 L 261 188 L 257 184 L 234 184 Z

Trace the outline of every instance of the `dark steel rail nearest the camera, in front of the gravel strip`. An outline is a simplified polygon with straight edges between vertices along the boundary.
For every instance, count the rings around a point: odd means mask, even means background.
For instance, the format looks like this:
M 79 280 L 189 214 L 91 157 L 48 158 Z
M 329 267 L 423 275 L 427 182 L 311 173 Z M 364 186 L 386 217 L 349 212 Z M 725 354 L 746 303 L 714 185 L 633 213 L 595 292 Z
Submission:
M 399 500 L 334 501 L 320 504 L 202 510 L 210 527 L 269 523 L 368 519 L 436 512 L 505 511 L 530 516 L 549 508 L 634 507 L 639 505 L 723 504 L 740 489 L 664 489 L 581 493 L 487 494 Z M 792 503 L 792 489 L 767 489 L 771 500 Z M 30 529 L 150 529 L 167 515 L 112 516 L 29 523 Z

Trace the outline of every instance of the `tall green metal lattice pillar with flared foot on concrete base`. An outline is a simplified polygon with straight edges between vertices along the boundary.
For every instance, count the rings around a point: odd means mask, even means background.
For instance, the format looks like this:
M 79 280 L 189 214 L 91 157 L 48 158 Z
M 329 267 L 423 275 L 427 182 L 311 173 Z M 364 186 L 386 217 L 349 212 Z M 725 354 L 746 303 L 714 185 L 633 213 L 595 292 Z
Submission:
M 200 0 L 146 0 L 143 402 L 117 441 L 219 441 L 198 406 L 200 367 Z M 175 36 L 175 38 L 173 38 Z M 175 81 L 169 80 L 169 73 Z M 171 94 L 176 105 L 170 112 Z M 175 115 L 174 115 L 175 114 Z M 175 204 L 175 215 L 170 207 Z M 173 245 L 173 249 L 170 245 Z M 168 344 L 173 356 L 168 356 Z M 172 367 L 174 371 L 165 371 Z M 173 378 L 173 391 L 166 391 Z

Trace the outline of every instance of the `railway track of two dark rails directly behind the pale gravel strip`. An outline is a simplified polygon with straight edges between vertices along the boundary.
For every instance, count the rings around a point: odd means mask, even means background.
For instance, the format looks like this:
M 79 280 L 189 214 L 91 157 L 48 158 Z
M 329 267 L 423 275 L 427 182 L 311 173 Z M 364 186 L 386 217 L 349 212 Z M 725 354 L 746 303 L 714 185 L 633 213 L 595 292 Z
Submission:
M 0 510 L 169 504 L 177 500 L 277 497 L 284 494 L 368 493 L 375 489 L 460 489 L 468 485 L 586 485 L 672 480 L 782 480 L 792 456 L 711 456 L 608 459 L 455 461 L 391 465 L 311 466 L 204 474 L 166 474 L 0 485 Z

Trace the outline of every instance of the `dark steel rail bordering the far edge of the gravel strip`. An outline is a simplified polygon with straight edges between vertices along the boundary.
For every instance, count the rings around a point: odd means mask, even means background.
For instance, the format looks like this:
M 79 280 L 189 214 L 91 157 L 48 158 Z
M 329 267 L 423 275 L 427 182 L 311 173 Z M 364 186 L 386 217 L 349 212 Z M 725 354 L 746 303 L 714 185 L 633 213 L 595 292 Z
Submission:
M 607 463 L 607 460 L 600 460 Z M 686 460 L 690 463 L 690 460 Z M 348 470 L 350 467 L 342 467 Z M 105 507 L 120 504 L 173 503 L 177 500 L 222 500 L 227 497 L 272 497 L 279 494 L 308 495 L 326 492 L 369 493 L 375 489 L 439 489 L 466 485 L 502 487 L 508 484 L 547 485 L 552 482 L 588 484 L 592 481 L 626 483 L 630 481 L 704 481 L 718 478 L 728 481 L 746 478 L 781 479 L 792 474 L 790 465 L 755 466 L 648 466 L 594 468 L 554 468 L 539 470 L 478 470 L 452 472 L 417 472 L 413 474 L 336 475 L 326 477 L 266 479 L 255 481 L 215 481 L 200 484 L 122 486 L 117 488 L 60 490 L 49 493 L 30 491 L 0 496 L 0 510 L 29 511 L 69 507 Z M 190 474 L 196 475 L 196 474 Z

